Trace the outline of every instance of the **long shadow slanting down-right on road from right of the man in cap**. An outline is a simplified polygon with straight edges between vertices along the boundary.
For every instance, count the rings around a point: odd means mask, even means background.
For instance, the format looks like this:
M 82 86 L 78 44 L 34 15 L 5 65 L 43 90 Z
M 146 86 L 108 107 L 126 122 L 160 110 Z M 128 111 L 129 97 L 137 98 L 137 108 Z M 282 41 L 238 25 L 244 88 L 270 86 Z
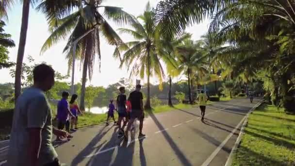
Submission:
M 157 127 L 160 130 L 164 130 L 163 125 L 159 122 L 159 120 L 157 119 L 157 117 L 151 112 L 149 113 L 150 117 L 153 119 L 153 121 L 156 123 Z M 183 152 L 179 149 L 179 147 L 175 144 L 175 142 L 173 141 L 173 139 L 171 138 L 171 136 L 166 132 L 162 132 L 162 134 L 164 135 L 166 141 L 169 143 L 170 147 L 174 150 L 175 154 L 177 155 L 177 157 L 180 159 L 180 162 L 182 163 L 183 166 L 193 166 L 190 161 L 185 157 L 185 155 L 183 154 Z

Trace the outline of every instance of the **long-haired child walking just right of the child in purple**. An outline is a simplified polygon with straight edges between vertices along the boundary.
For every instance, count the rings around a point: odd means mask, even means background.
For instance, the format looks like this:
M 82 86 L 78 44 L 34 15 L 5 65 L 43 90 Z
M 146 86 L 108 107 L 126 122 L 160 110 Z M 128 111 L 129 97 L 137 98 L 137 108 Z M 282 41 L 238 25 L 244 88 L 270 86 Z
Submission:
M 77 125 L 78 125 L 78 115 L 82 115 L 82 112 L 78 106 L 78 95 L 73 94 L 72 98 L 70 100 L 70 110 L 73 114 L 73 117 L 71 117 L 71 131 L 76 132 L 77 131 Z M 75 128 L 74 128 L 75 127 Z

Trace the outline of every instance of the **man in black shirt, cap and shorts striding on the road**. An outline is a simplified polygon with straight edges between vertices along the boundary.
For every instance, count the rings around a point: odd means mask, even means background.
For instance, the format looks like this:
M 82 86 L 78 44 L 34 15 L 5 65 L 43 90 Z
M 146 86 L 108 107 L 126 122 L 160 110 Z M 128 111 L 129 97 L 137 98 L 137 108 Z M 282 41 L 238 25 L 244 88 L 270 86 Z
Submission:
M 135 118 L 139 120 L 139 136 L 144 137 L 145 134 L 142 133 L 143 121 L 144 121 L 144 109 L 143 109 L 143 95 L 140 92 L 141 85 L 137 84 L 135 91 L 131 92 L 128 100 L 131 102 L 131 117 L 128 122 L 127 130 L 125 132 L 125 139 L 128 140 L 128 132 L 130 131 L 131 125 L 133 124 Z

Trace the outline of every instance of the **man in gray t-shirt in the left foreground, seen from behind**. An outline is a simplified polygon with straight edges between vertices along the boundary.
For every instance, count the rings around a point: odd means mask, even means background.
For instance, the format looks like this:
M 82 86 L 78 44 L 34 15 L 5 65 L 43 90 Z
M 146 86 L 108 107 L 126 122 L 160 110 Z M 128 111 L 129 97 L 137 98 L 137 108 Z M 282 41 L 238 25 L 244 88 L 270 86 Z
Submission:
M 45 64 L 33 70 L 34 85 L 26 89 L 16 102 L 13 117 L 8 166 L 59 166 L 52 146 L 52 132 L 66 136 L 66 132 L 52 129 L 52 111 L 44 92 L 54 84 L 54 70 Z

